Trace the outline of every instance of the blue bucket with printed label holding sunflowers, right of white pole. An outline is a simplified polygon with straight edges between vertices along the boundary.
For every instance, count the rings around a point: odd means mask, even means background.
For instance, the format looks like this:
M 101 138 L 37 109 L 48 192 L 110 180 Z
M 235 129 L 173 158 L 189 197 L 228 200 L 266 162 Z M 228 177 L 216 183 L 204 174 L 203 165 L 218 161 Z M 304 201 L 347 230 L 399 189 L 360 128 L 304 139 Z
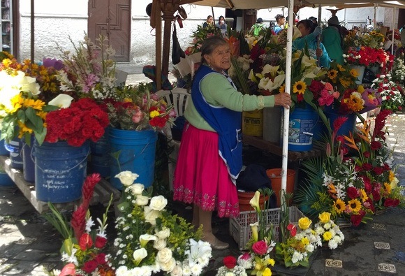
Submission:
M 318 122 L 318 113 L 311 108 L 295 108 L 290 113 L 288 128 L 288 150 L 305 152 L 312 150 L 314 126 Z

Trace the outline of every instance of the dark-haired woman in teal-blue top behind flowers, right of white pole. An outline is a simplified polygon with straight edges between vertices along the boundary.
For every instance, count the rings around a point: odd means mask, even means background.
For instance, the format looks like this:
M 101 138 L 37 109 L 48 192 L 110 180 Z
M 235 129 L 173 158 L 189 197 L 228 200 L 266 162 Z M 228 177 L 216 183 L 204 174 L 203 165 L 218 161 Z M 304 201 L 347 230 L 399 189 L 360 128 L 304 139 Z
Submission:
M 301 32 L 301 37 L 293 41 L 293 51 L 304 50 L 305 45 L 308 45 L 308 52 L 314 59 L 320 58 L 320 66 L 329 68 L 330 57 L 327 55 L 325 46 L 322 43 L 316 41 L 316 37 L 322 34 L 321 27 L 317 26 L 314 28 L 314 23 L 311 20 L 304 19 L 297 23 L 297 28 Z

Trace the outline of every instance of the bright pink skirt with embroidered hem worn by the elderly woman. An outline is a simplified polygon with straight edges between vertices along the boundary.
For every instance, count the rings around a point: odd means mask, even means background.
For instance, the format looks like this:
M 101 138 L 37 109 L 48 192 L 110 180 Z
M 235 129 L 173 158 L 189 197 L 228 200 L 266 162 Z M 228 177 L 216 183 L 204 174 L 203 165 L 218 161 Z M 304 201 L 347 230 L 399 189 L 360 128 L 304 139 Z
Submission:
M 194 203 L 218 217 L 237 217 L 237 189 L 219 156 L 218 133 L 184 126 L 173 178 L 173 198 Z

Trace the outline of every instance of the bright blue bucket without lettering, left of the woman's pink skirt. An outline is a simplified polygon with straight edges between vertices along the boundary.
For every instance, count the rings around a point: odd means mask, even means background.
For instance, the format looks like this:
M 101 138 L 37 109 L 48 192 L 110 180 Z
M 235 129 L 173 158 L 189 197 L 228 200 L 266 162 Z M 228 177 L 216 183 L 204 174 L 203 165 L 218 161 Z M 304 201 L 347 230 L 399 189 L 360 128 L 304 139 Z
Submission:
M 122 189 L 122 184 L 115 175 L 124 170 L 130 170 L 139 175 L 136 183 L 149 187 L 154 182 L 154 166 L 156 140 L 154 130 L 125 131 L 110 129 L 111 154 L 119 154 L 118 159 L 112 157 L 110 183 L 116 189 Z

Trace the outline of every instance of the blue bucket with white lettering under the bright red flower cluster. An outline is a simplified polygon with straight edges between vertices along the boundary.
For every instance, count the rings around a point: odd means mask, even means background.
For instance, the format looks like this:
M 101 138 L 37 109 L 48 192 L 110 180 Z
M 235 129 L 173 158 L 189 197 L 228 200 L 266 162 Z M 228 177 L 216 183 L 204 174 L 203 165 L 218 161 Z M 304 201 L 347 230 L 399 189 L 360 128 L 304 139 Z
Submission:
M 65 203 L 82 196 L 89 143 L 72 147 L 67 142 L 34 142 L 35 189 L 40 201 Z

